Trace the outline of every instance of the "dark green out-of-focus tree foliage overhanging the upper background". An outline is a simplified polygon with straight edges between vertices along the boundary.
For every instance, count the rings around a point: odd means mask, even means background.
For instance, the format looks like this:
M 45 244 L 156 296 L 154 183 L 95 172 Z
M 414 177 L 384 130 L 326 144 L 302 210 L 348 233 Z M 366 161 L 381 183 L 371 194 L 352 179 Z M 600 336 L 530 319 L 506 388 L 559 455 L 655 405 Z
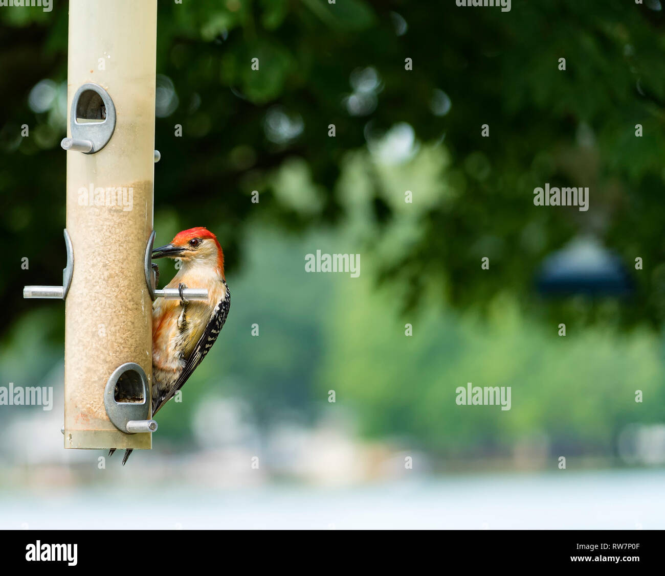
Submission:
M 543 256 L 584 232 L 631 270 L 643 258 L 636 295 L 614 310 L 624 325 L 658 324 L 665 313 L 665 36 L 662 12 L 652 8 L 516 0 L 502 13 L 399 0 L 160 1 L 156 213 L 175 215 L 179 228 L 215 229 L 235 270 L 253 211 L 285 233 L 352 217 L 336 188 L 342 159 L 406 126 L 416 147 L 444 142 L 446 166 L 434 189 L 402 183 L 414 193 L 417 233 L 400 257 L 377 266 L 380 278 L 410 288 L 400 304 L 416 306 L 426 285 L 440 281 L 442 296 L 465 308 L 504 290 L 528 306 Z M 58 143 L 66 17 L 65 2 L 50 13 L 0 11 L 0 231 L 19 248 L 0 278 L 3 332 L 39 305 L 23 302 L 21 286 L 55 282 L 64 263 Z M 251 58 L 259 58 L 258 71 Z M 41 80 L 53 83 L 53 98 L 35 110 L 29 94 Z M 31 138 L 21 138 L 24 123 Z M 481 124 L 489 138 L 480 137 Z M 642 138 L 635 124 L 644 126 Z M 318 187 L 310 209 L 275 191 L 275 170 L 287 161 L 301 162 Z M 386 197 L 378 171 L 366 169 L 376 227 L 363 247 L 380 251 L 403 207 Z M 591 210 L 534 207 L 533 188 L 545 181 L 588 185 Z M 249 201 L 252 190 L 261 192 L 260 207 Z M 30 258 L 28 271 L 21 256 Z M 481 256 L 491 260 L 489 274 Z M 552 310 L 579 312 L 540 301 L 531 308 Z

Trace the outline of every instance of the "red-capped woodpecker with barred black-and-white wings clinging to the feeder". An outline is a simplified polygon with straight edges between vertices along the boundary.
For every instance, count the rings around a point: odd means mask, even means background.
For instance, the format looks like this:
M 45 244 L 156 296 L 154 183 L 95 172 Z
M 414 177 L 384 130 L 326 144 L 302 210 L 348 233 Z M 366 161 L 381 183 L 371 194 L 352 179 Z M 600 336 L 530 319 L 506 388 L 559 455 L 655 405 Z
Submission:
M 219 336 L 229 314 L 231 292 L 224 278 L 224 253 L 209 230 L 184 230 L 152 258 L 178 258 L 180 270 L 166 288 L 178 288 L 180 301 L 152 304 L 152 415 L 186 383 Z M 154 264 L 153 264 L 154 265 Z M 184 288 L 207 288 L 207 300 L 186 300 Z M 115 448 L 110 450 L 109 456 Z M 125 450 L 124 466 L 132 450 Z

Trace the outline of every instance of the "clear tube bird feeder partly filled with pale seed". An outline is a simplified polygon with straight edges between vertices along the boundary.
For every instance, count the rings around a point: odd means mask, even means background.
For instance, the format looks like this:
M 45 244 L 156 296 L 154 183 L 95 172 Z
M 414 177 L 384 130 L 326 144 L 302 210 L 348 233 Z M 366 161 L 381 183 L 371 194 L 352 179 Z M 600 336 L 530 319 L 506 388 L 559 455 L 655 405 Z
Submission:
M 151 448 L 157 0 L 70 0 L 65 448 Z M 199 294 L 201 292 L 202 294 Z M 188 299 L 205 290 L 185 290 Z

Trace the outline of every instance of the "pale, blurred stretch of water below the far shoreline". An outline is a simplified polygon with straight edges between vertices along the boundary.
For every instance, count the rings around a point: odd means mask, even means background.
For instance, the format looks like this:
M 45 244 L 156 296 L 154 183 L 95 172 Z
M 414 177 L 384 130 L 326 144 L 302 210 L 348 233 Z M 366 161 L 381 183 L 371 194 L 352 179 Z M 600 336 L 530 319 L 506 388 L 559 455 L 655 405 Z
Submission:
M 145 529 L 662 529 L 664 480 L 662 471 L 595 471 L 419 477 L 354 488 L 154 480 L 21 488 L 0 492 L 0 528 L 127 529 L 140 518 Z

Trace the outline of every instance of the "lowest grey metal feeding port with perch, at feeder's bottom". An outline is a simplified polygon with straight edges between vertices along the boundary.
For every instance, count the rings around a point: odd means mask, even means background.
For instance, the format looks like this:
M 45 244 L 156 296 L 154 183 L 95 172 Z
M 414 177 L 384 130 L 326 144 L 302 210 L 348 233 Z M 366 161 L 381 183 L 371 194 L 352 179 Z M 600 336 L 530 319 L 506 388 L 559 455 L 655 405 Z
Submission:
M 108 419 L 121 432 L 154 432 L 157 423 L 148 419 L 148 377 L 134 362 L 118 366 L 104 389 L 104 407 Z

